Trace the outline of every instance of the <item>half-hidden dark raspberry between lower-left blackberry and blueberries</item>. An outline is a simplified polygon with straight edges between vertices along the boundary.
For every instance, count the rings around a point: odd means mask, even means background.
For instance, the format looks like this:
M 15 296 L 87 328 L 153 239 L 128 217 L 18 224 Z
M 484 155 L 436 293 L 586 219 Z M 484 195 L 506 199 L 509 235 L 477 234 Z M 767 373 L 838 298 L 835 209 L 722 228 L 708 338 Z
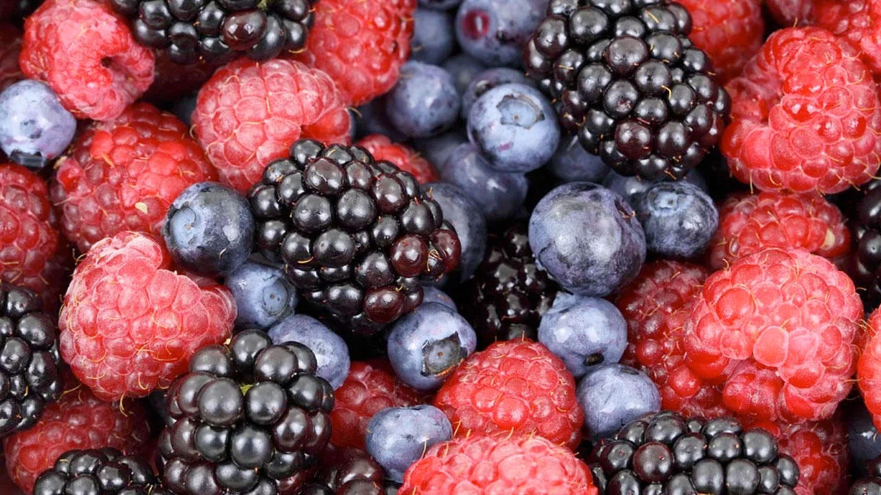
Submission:
M 366 448 L 367 423 L 377 412 L 389 407 L 415 406 L 419 396 L 395 378 L 388 366 L 353 362 L 349 376 L 334 391 L 330 411 L 330 443 L 337 447 Z

